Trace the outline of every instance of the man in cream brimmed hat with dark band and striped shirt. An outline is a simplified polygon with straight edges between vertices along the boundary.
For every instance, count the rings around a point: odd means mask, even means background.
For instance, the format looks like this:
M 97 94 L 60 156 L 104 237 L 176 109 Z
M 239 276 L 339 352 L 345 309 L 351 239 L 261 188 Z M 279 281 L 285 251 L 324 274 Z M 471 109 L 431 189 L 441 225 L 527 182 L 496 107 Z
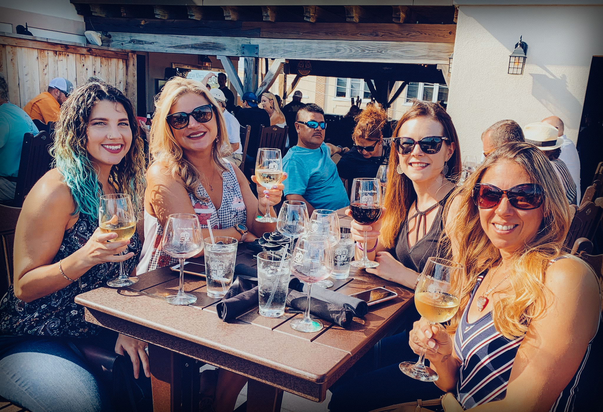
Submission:
M 576 184 L 573 183 L 572 175 L 567 170 L 566 164 L 559 158 L 563 139 L 557 138 L 557 128 L 549 123 L 530 123 L 523 126 L 523 136 L 526 143 L 537 146 L 549 158 L 566 194 L 567 201 L 570 205 L 577 205 Z

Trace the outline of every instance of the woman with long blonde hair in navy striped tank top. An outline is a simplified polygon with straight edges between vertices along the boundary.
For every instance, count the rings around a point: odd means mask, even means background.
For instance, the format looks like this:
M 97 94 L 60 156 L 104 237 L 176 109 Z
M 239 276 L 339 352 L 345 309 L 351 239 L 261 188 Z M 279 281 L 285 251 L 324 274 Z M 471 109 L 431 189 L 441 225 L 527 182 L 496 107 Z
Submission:
M 465 293 L 446 329 L 415 322 L 412 350 L 426 348 L 435 383 L 463 408 L 582 410 L 601 293 L 593 270 L 561 251 L 569 204 L 548 158 L 508 143 L 452 196 L 445 230 Z

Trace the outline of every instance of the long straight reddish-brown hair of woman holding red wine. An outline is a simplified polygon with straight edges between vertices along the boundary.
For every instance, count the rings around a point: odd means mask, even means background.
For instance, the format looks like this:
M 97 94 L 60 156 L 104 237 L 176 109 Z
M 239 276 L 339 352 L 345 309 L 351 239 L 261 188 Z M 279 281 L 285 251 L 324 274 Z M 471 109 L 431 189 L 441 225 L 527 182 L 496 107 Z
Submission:
M 366 110 L 366 109 L 365 109 Z M 450 139 L 450 142 L 444 140 L 444 144 L 450 146 L 455 144 L 455 151 L 448 160 L 448 172 L 446 178 L 454 183 L 458 182 L 461 172 L 461 148 L 456 135 L 455 127 L 450 115 L 446 113 L 443 107 L 438 103 L 423 102 L 415 100 L 410 110 L 403 114 L 396 125 L 392 136 L 397 137 L 400 127 L 408 120 L 417 117 L 429 117 L 436 120 L 444 129 L 444 136 Z M 414 186 L 411 179 L 406 175 L 399 175 L 396 172 L 400 159 L 398 152 L 394 149 L 390 153 L 390 167 L 387 176 L 387 190 L 385 192 L 384 207 L 387 208 L 383 224 L 381 226 L 380 240 L 386 248 L 393 248 L 396 238 L 400 233 L 401 222 L 406 220 L 406 214 L 411 207 L 412 202 L 417 199 Z

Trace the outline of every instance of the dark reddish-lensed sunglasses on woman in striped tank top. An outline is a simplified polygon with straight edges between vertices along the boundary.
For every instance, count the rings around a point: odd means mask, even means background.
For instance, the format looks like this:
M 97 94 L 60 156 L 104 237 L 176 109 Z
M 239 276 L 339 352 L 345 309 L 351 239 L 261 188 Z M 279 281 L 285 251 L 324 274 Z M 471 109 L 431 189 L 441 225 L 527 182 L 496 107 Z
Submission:
M 473 201 L 480 209 L 496 207 L 502 195 L 507 195 L 513 207 L 523 210 L 537 209 L 545 201 L 545 191 L 536 183 L 518 184 L 507 190 L 485 183 L 473 186 Z

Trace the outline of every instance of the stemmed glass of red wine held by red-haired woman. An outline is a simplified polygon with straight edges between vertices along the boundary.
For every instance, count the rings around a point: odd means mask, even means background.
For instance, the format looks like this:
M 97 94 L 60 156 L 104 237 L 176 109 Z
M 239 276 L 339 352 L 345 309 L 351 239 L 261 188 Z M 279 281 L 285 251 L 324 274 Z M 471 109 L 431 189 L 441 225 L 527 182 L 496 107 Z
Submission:
M 381 186 L 377 178 L 358 178 L 352 183 L 350 196 L 352 217 L 361 225 L 372 225 L 381 216 Z M 368 260 L 367 233 L 364 232 L 362 259 L 350 263 L 359 269 L 377 267 L 379 263 Z

